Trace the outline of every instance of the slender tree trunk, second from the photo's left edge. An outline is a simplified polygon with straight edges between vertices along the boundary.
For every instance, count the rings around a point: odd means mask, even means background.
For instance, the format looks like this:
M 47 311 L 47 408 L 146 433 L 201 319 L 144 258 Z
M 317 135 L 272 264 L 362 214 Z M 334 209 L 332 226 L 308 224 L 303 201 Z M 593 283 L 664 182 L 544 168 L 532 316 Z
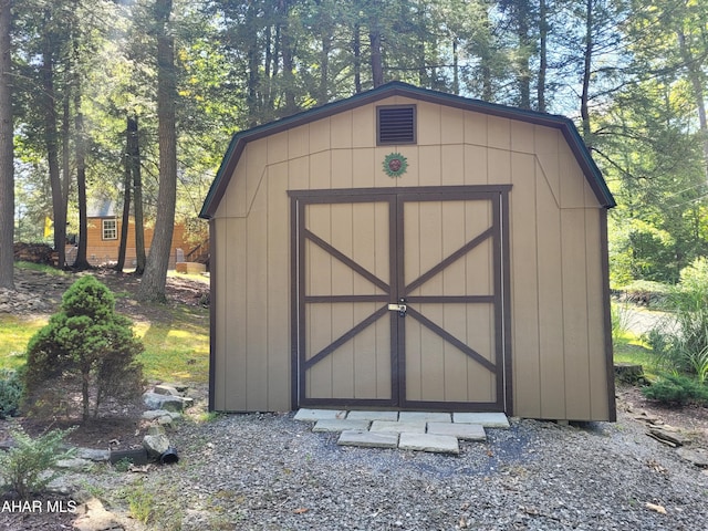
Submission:
M 45 25 L 49 24 L 51 13 L 44 13 Z M 46 31 L 46 30 L 45 30 Z M 64 192 L 59 167 L 59 142 L 56 131 L 56 107 L 54 94 L 54 46 L 49 34 L 44 34 L 42 43 L 42 90 L 44 95 L 44 144 L 46 146 L 46 163 L 49 180 L 52 188 L 52 211 L 54 214 L 54 250 L 59 254 L 59 267 L 66 261 L 66 210 Z

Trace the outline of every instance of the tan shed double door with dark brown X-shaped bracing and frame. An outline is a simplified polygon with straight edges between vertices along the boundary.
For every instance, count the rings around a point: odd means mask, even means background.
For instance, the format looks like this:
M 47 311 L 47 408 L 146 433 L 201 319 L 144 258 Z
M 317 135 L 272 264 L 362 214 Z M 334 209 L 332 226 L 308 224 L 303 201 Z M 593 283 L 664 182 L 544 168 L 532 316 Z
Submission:
M 509 410 L 506 188 L 291 198 L 294 406 Z

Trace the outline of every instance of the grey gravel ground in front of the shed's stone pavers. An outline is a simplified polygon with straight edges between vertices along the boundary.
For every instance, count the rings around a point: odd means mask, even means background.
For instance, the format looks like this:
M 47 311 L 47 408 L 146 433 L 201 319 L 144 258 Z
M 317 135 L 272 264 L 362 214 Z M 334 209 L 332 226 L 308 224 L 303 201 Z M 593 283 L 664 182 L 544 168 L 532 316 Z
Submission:
M 337 447 L 310 427 L 292 414 L 185 425 L 170 436 L 179 465 L 127 478 L 157 494 L 155 529 L 708 528 L 708 476 L 627 414 L 583 427 L 514 419 L 459 457 Z

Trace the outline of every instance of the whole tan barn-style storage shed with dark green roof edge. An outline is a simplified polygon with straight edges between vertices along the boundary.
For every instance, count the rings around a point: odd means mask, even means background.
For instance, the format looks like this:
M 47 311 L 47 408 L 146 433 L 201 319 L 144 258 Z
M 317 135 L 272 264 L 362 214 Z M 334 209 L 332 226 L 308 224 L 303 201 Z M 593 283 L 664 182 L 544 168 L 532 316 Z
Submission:
M 237 134 L 210 409 L 614 420 L 614 205 L 568 118 L 398 82 Z

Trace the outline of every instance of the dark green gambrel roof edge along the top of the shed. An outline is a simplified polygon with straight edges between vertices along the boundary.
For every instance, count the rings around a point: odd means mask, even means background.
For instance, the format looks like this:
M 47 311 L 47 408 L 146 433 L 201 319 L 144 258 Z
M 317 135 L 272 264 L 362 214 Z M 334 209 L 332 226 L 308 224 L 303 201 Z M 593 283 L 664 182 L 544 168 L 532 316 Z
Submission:
M 592 159 L 590 150 L 585 146 L 585 143 L 581 138 L 577 128 L 570 118 L 560 115 L 539 113 L 537 111 L 527 111 L 522 108 L 510 107 L 507 105 L 482 102 L 480 100 L 456 96 L 452 94 L 430 91 L 427 88 L 419 88 L 407 83 L 394 81 L 372 91 L 355 94 L 352 97 L 332 102 L 320 107 L 311 108 L 309 111 L 304 111 L 302 113 L 298 113 L 275 122 L 259 125 L 257 127 L 246 129 L 233 135 L 223 160 L 221 162 L 221 166 L 217 171 L 217 176 L 211 184 L 209 192 L 207 194 L 207 198 L 204 202 L 201 211 L 199 212 L 199 217 L 209 219 L 216 212 L 221 197 L 223 196 L 229 185 L 229 180 L 233 175 L 233 170 L 236 169 L 239 157 L 243 153 L 243 149 L 249 142 L 274 135 L 292 127 L 304 125 L 392 96 L 404 96 L 433 104 L 446 105 L 464 111 L 472 111 L 476 113 L 488 114 L 502 118 L 527 122 L 530 124 L 542 125 L 545 127 L 559 129 L 563 134 L 565 142 L 575 156 L 577 164 L 585 175 L 585 178 L 587 179 L 590 187 L 594 191 L 600 205 L 604 208 L 612 208 L 616 206 L 616 202 L 612 196 L 612 192 L 607 188 L 600 168 Z

